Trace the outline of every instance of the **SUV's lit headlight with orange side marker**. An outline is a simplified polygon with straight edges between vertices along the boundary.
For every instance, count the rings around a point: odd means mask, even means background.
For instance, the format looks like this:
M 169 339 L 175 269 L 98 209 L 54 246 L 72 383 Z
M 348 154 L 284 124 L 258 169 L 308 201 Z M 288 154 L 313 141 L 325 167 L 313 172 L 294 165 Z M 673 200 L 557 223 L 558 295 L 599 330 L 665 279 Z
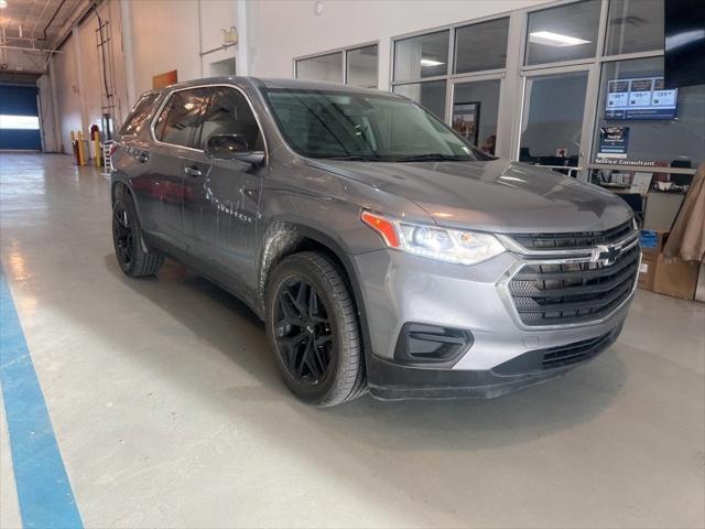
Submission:
M 367 210 L 360 219 L 390 248 L 441 261 L 477 264 L 505 251 L 502 244 L 488 234 L 403 223 Z

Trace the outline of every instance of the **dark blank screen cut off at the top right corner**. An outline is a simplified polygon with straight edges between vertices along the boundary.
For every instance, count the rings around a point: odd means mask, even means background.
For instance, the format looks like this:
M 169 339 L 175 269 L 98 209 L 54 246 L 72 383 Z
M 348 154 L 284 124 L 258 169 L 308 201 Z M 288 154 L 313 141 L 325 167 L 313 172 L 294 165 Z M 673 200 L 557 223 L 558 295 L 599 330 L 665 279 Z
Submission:
M 663 3 L 665 87 L 705 84 L 705 0 Z

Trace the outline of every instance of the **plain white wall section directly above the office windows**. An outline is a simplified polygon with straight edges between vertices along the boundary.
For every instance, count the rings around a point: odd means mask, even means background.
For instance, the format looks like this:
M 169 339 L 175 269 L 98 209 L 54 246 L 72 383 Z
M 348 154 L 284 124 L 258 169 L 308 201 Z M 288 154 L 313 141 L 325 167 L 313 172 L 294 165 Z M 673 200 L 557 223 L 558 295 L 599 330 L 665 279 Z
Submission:
M 312 0 L 249 1 L 250 75 L 291 77 L 293 57 L 379 41 L 379 88 L 388 89 L 392 36 L 545 1 L 323 0 L 321 15 Z

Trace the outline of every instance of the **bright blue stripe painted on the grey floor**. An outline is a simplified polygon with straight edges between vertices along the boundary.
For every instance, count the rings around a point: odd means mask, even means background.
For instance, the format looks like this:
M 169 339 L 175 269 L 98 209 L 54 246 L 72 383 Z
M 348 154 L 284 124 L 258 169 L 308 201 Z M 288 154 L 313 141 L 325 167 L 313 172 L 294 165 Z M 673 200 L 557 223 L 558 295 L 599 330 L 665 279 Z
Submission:
M 42 388 L 0 267 L 0 386 L 25 529 L 80 529 Z

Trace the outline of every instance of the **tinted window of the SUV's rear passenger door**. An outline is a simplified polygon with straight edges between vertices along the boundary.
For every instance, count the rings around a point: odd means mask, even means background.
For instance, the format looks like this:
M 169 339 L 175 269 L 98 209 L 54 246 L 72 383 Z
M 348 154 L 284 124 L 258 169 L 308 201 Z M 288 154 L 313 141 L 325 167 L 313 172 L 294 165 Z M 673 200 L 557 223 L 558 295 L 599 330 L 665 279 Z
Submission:
M 208 98 L 206 88 L 174 93 L 154 126 L 156 139 L 173 145 L 192 147 L 200 111 Z

